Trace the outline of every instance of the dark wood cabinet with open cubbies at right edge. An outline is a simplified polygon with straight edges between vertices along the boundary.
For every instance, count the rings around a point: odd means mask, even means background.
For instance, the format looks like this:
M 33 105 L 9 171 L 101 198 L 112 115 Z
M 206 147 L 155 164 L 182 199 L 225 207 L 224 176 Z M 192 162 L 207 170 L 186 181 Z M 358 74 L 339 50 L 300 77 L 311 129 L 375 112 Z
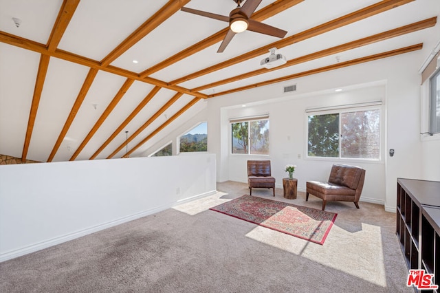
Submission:
M 398 178 L 396 214 L 396 234 L 408 270 L 434 274 L 439 285 L 440 182 Z

